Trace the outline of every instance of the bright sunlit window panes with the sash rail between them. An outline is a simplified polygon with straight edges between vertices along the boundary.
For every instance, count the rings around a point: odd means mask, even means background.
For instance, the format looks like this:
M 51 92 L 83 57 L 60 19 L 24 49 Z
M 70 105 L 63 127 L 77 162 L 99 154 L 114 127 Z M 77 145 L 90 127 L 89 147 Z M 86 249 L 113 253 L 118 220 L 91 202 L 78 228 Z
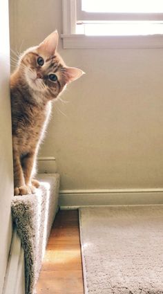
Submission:
M 163 0 L 79 0 L 79 3 L 81 13 L 77 19 L 77 34 L 163 34 Z

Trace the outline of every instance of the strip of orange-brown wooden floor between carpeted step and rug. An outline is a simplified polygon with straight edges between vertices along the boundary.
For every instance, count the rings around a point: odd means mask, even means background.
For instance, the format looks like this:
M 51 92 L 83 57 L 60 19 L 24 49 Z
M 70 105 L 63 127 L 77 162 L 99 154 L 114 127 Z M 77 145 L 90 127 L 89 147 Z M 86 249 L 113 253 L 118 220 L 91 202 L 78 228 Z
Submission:
M 37 294 L 84 294 L 77 210 L 57 213 L 37 283 Z

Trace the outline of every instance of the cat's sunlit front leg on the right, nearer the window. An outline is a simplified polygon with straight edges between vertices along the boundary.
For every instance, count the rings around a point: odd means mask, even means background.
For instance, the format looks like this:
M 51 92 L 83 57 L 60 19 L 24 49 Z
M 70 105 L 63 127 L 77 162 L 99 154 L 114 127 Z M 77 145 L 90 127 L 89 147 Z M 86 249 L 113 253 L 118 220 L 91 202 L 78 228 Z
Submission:
M 35 187 L 39 187 L 39 182 L 32 179 L 32 172 L 35 169 L 35 152 L 30 152 L 21 160 L 21 165 L 23 168 L 23 176 L 25 178 L 25 183 L 30 187 L 32 193 L 35 193 Z M 37 183 L 35 183 L 37 182 Z

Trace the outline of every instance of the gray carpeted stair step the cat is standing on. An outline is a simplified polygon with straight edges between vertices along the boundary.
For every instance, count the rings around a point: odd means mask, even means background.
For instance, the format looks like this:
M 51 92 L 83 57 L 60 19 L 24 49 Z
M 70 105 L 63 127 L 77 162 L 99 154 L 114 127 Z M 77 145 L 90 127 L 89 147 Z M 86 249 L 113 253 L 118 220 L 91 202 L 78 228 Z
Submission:
M 36 194 L 14 196 L 12 219 L 25 257 L 26 294 L 35 293 L 41 261 L 58 209 L 59 174 L 39 174 Z

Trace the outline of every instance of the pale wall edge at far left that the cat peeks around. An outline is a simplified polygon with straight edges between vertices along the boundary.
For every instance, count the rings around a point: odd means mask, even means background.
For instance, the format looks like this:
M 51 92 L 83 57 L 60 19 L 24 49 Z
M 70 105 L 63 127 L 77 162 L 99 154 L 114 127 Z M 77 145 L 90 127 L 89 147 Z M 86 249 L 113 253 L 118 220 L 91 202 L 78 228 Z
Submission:
M 13 172 L 10 120 L 10 46 L 8 25 L 8 0 L 4 0 L 0 1 L 0 293 L 3 288 L 12 235 L 10 203 L 13 195 Z

